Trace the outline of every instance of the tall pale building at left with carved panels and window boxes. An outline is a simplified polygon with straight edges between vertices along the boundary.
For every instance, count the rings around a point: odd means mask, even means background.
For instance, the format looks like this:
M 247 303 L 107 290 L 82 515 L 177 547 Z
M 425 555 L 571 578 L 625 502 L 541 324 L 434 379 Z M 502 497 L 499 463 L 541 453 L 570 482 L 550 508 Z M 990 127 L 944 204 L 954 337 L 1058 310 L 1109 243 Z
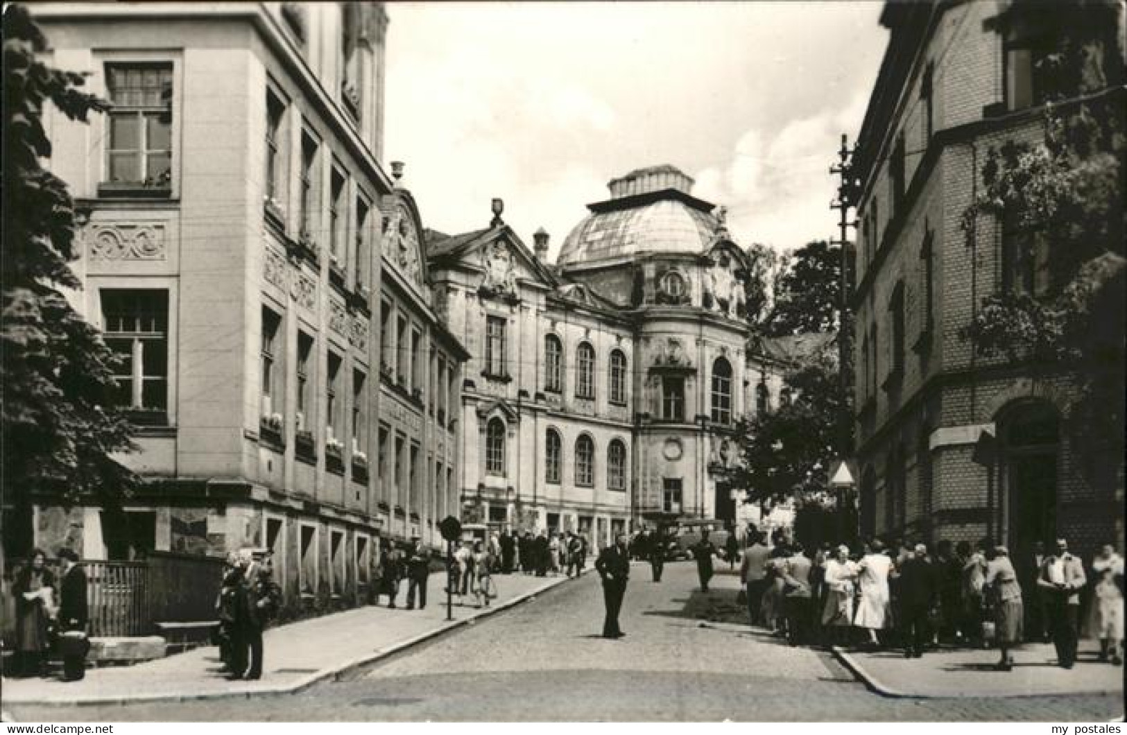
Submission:
M 50 63 L 114 104 L 46 122 L 144 484 L 121 511 L 32 498 L 7 520 L 87 559 L 269 547 L 291 610 L 362 600 L 379 537 L 437 544 L 456 512 L 467 356 L 381 162 L 382 5 L 34 14 Z

